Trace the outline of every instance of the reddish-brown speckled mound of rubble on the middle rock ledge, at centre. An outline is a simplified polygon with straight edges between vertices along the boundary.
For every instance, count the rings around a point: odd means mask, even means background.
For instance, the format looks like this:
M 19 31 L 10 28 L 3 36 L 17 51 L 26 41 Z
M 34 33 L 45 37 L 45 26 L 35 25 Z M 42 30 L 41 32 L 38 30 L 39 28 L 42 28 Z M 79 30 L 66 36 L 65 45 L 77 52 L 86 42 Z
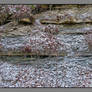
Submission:
M 34 30 L 30 35 L 29 43 L 24 47 L 25 52 L 32 52 L 37 54 L 58 54 L 65 50 L 64 45 L 51 34 Z

